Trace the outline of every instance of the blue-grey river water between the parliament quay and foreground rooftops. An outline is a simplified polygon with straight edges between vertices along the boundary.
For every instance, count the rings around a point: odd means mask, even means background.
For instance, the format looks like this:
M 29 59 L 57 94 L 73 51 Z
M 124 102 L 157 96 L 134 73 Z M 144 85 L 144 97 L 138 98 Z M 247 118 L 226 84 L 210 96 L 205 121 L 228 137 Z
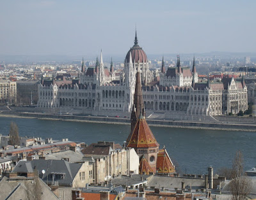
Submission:
M 12 121 L 18 125 L 20 136 L 68 138 L 70 141 L 83 141 L 87 144 L 115 141 L 122 145 L 130 131 L 129 125 L 0 117 L 0 134 L 8 134 Z M 243 152 L 245 170 L 256 166 L 256 131 L 170 127 L 151 127 L 151 130 L 160 144 L 159 148 L 166 146 L 168 154 L 182 173 L 206 173 L 208 166 L 213 166 L 215 173 L 219 168 L 230 168 L 237 150 Z

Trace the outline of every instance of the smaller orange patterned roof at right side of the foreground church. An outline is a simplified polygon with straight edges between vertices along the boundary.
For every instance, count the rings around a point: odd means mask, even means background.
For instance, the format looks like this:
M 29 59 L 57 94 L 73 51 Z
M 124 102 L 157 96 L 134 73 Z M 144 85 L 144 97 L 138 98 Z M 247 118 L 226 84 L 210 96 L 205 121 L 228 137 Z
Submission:
M 175 172 L 175 166 L 173 165 L 172 160 L 166 152 L 166 148 L 159 150 L 157 154 L 156 170 L 157 173 Z

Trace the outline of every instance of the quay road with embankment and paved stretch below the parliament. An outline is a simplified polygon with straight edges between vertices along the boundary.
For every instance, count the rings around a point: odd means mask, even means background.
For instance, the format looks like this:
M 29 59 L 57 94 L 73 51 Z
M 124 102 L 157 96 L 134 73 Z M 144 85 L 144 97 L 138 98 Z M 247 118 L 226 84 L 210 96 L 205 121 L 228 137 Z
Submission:
M 0 117 L 26 117 L 26 118 L 42 118 L 47 120 L 69 120 L 77 122 L 95 122 L 106 124 L 130 124 L 128 117 L 100 117 L 90 115 L 68 115 L 68 114 L 49 114 L 49 113 L 29 113 L 29 112 L 13 112 L 3 111 Z M 256 124 L 252 117 L 216 117 L 216 121 L 205 120 L 157 120 L 147 118 L 148 125 L 159 127 L 181 127 L 193 129 L 216 129 L 228 131 L 252 131 L 256 132 Z

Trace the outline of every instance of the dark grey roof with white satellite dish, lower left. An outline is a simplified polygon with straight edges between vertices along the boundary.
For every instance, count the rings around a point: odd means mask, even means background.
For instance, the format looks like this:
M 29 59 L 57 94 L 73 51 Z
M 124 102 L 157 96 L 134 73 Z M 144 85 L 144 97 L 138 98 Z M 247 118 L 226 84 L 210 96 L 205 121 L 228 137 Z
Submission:
M 50 176 L 47 180 L 47 175 L 61 174 L 65 176 L 63 179 L 56 180 L 59 182 L 59 185 L 72 185 L 72 182 L 81 166 L 82 163 L 69 163 L 63 160 L 19 161 L 12 172 L 27 173 L 37 170 L 44 182 L 52 181 Z M 45 170 L 44 175 L 42 174 L 43 169 Z

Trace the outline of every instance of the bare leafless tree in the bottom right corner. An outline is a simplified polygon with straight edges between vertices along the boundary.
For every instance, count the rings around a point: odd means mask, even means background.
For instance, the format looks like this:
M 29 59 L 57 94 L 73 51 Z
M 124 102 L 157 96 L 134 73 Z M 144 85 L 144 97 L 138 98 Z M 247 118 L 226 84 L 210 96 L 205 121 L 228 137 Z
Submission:
M 232 181 L 230 182 L 230 189 L 232 192 L 232 199 L 244 200 L 252 190 L 252 180 L 244 175 L 243 171 L 243 154 L 241 151 L 236 152 L 236 157 L 232 166 Z

